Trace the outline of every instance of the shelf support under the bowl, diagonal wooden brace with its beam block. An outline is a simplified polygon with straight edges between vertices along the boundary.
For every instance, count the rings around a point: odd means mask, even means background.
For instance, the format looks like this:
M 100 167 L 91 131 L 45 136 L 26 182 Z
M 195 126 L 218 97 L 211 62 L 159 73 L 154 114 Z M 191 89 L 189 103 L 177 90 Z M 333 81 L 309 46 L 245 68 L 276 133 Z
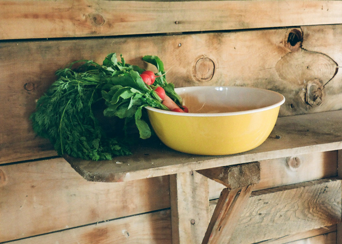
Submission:
M 197 172 L 227 186 L 221 192 L 202 244 L 228 244 L 253 185 L 260 181 L 260 163 L 252 162 Z

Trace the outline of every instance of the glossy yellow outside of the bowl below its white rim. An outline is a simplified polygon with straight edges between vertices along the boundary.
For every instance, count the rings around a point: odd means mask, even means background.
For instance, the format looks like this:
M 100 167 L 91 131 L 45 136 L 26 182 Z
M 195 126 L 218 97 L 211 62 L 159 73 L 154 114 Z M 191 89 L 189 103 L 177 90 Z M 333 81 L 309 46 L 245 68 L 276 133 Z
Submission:
M 190 154 L 226 155 L 261 145 L 273 130 L 279 107 L 214 117 L 178 116 L 151 110 L 147 113 L 166 146 Z

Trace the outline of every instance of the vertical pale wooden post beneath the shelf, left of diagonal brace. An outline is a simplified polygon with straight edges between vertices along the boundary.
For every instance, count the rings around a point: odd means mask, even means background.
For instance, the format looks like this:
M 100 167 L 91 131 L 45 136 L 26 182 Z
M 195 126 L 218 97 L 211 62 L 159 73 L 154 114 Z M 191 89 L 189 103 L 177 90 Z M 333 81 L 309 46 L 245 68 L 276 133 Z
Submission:
M 200 244 L 209 216 L 208 178 L 197 172 L 170 175 L 172 244 Z

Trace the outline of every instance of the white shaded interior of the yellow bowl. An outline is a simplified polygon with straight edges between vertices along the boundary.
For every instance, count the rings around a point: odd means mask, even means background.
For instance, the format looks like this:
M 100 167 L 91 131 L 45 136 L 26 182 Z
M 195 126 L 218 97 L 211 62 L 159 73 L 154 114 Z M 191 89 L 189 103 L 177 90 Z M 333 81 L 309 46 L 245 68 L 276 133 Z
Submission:
M 192 86 L 176 88 L 175 91 L 190 113 L 257 112 L 278 107 L 285 101 L 277 92 L 254 87 Z

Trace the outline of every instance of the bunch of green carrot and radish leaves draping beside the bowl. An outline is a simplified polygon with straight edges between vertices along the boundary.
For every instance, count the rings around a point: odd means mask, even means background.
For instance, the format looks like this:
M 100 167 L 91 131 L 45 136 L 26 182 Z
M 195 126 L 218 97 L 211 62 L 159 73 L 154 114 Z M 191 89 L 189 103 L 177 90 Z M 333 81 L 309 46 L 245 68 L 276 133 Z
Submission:
M 140 77 L 144 69 L 127 64 L 116 53 L 106 56 L 103 64 L 92 60 L 78 60 L 67 68 L 56 71 L 57 79 L 41 96 L 36 111 L 30 116 L 37 135 L 48 138 L 58 154 L 86 160 L 111 160 L 117 155 L 129 155 L 133 141 L 132 128 L 139 137 L 147 139 L 151 129 L 145 106 L 168 110 L 154 92 L 156 85 L 179 105 L 182 100 L 167 83 L 164 65 L 157 56 L 143 60 L 157 67 L 153 85 Z M 77 69 L 75 64 L 83 63 Z M 108 133 L 97 112 L 105 118 L 114 118 L 115 133 Z M 101 117 L 101 116 L 100 116 Z M 134 130 L 133 130 L 134 131 Z

